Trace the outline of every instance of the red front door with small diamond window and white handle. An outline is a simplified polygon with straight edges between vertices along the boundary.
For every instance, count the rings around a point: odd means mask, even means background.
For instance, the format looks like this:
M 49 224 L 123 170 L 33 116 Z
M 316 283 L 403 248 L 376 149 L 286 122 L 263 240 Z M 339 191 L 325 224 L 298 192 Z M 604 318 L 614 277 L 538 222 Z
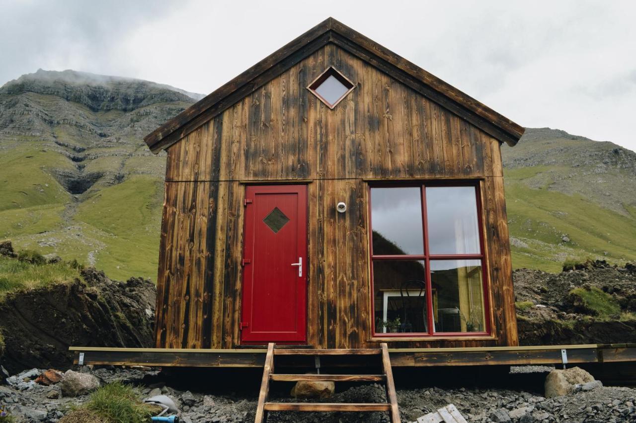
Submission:
M 242 343 L 307 341 L 307 186 L 245 192 Z

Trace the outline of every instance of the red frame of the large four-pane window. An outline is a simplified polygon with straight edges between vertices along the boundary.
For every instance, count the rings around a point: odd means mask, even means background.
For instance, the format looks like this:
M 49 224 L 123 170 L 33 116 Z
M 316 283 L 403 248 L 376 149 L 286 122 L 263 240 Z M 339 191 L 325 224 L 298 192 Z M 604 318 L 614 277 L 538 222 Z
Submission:
M 426 188 L 434 186 L 473 186 L 475 190 L 475 202 L 477 208 L 477 225 L 479 233 L 480 253 L 479 254 L 429 254 L 429 237 L 427 225 L 427 204 Z M 420 202 L 422 211 L 422 237 L 424 238 L 424 254 L 404 254 L 404 255 L 375 255 L 373 254 L 373 221 L 371 219 L 371 190 L 373 188 L 420 188 Z M 488 278 L 486 271 L 486 254 L 484 249 L 483 219 L 480 183 L 478 181 L 417 181 L 402 183 L 371 183 L 368 186 L 368 216 L 369 216 L 369 253 L 370 253 L 370 276 L 371 276 L 371 334 L 374 337 L 382 338 L 427 338 L 427 337 L 450 337 L 450 336 L 490 336 L 492 324 L 490 317 L 490 297 L 488 295 Z M 426 307 L 429 331 L 408 332 L 408 333 L 377 333 L 375 331 L 375 288 L 373 286 L 373 262 L 374 261 L 424 261 L 425 262 L 425 284 L 426 284 Z M 431 260 L 480 260 L 481 261 L 481 284 L 483 289 L 483 307 L 485 318 L 485 331 L 481 332 L 436 332 L 433 322 L 432 305 L 432 284 L 431 284 Z

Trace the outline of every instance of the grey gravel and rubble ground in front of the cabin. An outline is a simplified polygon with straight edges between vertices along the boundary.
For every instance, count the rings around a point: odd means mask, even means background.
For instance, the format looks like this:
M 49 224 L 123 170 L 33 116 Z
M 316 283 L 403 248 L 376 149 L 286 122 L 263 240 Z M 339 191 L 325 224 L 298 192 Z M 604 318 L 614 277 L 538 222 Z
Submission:
M 84 369 L 85 371 L 90 371 Z M 521 371 L 526 371 L 523 369 Z M 533 370 L 533 369 L 530 369 Z M 537 367 L 536 371 L 545 371 Z M 518 370 L 519 371 L 519 370 Z M 256 410 L 256 390 L 259 381 L 249 379 L 254 389 L 249 392 L 218 394 L 219 380 L 209 380 L 217 393 L 179 391 L 166 384 L 157 371 L 97 369 L 91 371 L 104 382 L 125 380 L 139 385 L 144 396 L 167 394 L 181 407 L 185 423 L 251 422 Z M 246 379 L 247 381 L 247 379 Z M 183 384 L 183 380 L 179 385 Z M 0 386 L 0 403 L 13 415 L 23 416 L 27 422 L 57 422 L 72 405 L 79 405 L 87 397 L 50 398 L 59 396 L 59 387 L 45 387 L 27 383 L 21 389 Z M 213 392 L 213 391 L 211 391 Z M 298 401 L 289 398 L 285 389 L 273 392 L 279 401 Z M 413 421 L 429 412 L 453 403 L 469 422 L 636 422 L 636 389 L 600 387 L 594 391 L 577 392 L 568 396 L 546 399 L 537 392 L 497 388 L 437 387 L 398 389 L 397 398 L 403 422 Z M 343 386 L 328 402 L 382 402 L 384 387 L 378 384 Z M 270 413 L 268 422 L 387 422 L 385 413 Z

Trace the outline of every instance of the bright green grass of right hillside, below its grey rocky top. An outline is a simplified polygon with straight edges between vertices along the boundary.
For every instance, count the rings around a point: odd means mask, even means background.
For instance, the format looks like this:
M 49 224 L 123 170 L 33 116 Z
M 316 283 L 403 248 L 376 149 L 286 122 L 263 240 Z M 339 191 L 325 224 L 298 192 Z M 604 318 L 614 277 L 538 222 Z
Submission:
M 599 258 L 624 264 L 636 260 L 636 219 L 581 197 L 531 188 L 527 179 L 543 167 L 506 171 L 506 205 L 514 268 L 560 272 L 566 259 Z M 562 241 L 567 234 L 570 242 Z

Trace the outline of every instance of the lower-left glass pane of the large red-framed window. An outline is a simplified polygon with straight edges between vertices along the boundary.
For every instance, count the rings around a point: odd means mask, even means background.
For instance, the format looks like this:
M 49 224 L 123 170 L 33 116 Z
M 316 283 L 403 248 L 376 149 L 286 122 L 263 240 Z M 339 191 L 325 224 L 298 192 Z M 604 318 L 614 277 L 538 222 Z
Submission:
M 375 333 L 426 333 L 424 261 L 374 261 Z

